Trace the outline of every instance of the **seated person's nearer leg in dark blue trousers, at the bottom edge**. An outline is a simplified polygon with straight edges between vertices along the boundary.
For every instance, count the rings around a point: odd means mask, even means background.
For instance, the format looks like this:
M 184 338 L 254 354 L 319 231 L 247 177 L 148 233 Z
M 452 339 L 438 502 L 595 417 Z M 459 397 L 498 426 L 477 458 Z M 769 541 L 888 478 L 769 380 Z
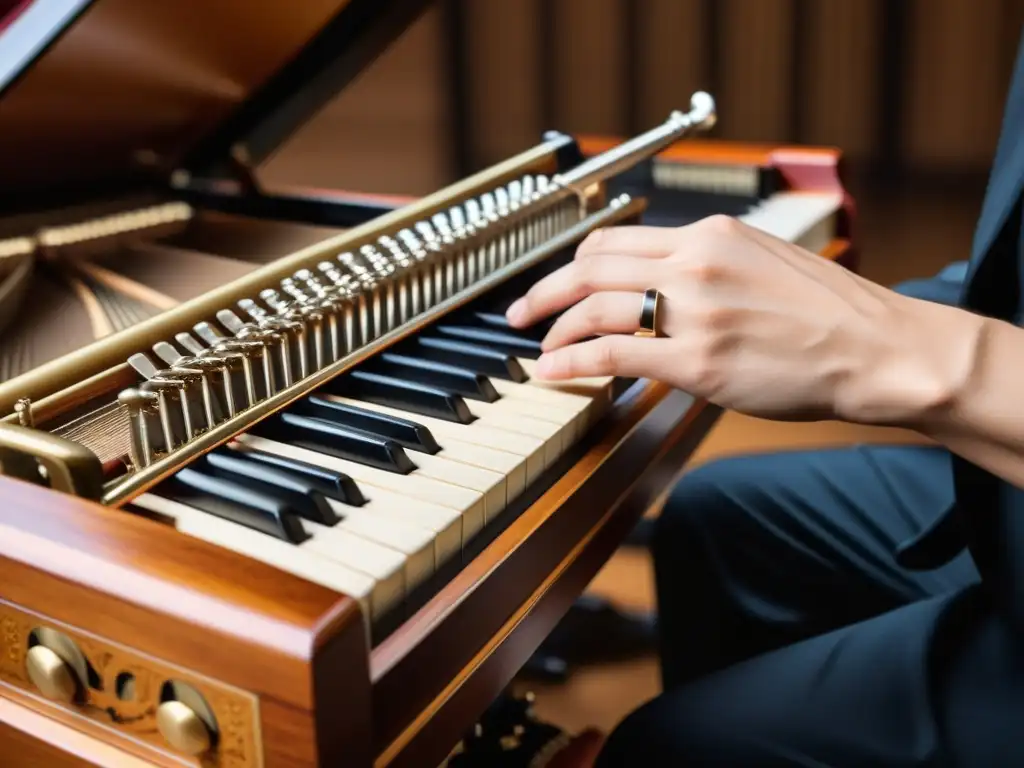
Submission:
M 676 688 L 596 768 L 1024 765 L 1024 653 L 986 603 L 969 587 Z

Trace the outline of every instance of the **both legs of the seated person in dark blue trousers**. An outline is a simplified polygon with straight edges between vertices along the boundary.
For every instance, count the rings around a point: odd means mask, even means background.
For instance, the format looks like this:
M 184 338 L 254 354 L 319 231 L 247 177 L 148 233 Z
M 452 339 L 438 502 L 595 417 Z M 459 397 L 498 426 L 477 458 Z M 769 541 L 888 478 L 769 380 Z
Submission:
M 667 692 L 600 768 L 933 764 L 931 642 L 978 573 L 966 552 L 928 572 L 894 556 L 951 500 L 949 455 L 927 446 L 685 475 L 653 538 Z

